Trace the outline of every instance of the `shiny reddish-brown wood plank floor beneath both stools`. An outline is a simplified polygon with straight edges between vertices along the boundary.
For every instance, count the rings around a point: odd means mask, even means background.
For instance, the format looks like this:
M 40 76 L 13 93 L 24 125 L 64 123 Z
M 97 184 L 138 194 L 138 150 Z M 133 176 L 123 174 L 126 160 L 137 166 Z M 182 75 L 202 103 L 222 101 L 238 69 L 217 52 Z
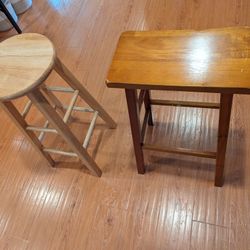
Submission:
M 250 25 L 248 0 L 34 0 L 20 26 L 54 42 L 118 128 L 98 120 L 90 145 L 103 171 L 97 178 L 65 158 L 56 169 L 48 167 L 0 111 L 0 249 L 250 249 L 250 97 L 235 96 L 226 182 L 215 188 L 214 160 L 147 152 L 147 173 L 138 175 L 125 95 L 104 84 L 122 31 L 237 25 Z M 13 34 L 0 33 L 0 40 Z M 48 82 L 62 80 L 53 75 Z M 153 96 L 218 100 L 215 94 Z M 148 141 L 215 149 L 218 111 L 153 111 Z M 76 115 L 73 121 L 79 138 L 88 119 Z M 30 120 L 42 118 L 33 110 Z M 64 147 L 60 138 L 48 143 Z

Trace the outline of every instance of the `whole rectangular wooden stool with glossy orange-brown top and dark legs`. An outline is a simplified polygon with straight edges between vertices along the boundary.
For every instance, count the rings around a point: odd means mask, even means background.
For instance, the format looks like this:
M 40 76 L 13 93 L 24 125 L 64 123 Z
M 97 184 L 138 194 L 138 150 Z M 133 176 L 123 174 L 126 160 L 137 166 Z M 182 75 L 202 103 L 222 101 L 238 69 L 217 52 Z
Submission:
M 215 186 L 223 185 L 223 170 L 233 94 L 250 93 L 250 28 L 205 31 L 125 32 L 121 35 L 107 86 L 126 92 L 133 144 L 140 174 L 145 173 L 143 149 L 216 159 Z M 141 90 L 137 98 L 137 89 Z M 155 100 L 150 90 L 220 93 L 220 103 Z M 140 124 L 139 112 L 145 105 Z M 151 105 L 219 109 L 216 152 L 144 144 Z

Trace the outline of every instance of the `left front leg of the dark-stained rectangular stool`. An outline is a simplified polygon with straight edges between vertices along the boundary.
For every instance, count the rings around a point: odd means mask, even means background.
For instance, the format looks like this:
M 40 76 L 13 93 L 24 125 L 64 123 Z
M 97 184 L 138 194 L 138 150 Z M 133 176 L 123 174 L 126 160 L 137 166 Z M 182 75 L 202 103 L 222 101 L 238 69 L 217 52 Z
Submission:
M 135 158 L 139 174 L 145 173 L 144 157 L 142 151 L 141 125 L 139 117 L 139 106 L 137 103 L 137 92 L 134 89 L 125 89 L 130 119 L 131 132 L 133 137 Z

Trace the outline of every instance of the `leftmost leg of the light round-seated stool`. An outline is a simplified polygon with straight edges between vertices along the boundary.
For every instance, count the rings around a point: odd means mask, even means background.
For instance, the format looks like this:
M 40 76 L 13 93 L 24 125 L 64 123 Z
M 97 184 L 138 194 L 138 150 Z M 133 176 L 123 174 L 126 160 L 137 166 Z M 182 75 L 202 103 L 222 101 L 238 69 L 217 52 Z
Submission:
M 21 114 L 18 112 L 16 107 L 11 102 L 0 102 L 0 106 L 9 115 L 9 117 L 17 125 L 17 127 L 23 132 L 23 134 L 31 142 L 31 144 L 33 144 L 37 152 L 43 158 L 45 158 L 45 160 L 49 163 L 49 165 L 54 166 L 55 162 L 53 161 L 53 159 L 50 157 L 48 153 L 43 152 L 43 145 L 38 140 L 36 135 L 32 131 L 26 130 L 26 127 L 28 126 L 28 124 L 23 119 Z

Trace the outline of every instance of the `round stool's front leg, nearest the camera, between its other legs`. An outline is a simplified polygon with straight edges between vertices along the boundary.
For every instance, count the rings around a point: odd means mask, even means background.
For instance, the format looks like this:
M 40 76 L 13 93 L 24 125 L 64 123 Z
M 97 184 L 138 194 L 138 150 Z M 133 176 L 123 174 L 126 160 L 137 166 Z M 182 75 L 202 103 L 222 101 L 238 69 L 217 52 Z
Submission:
M 68 126 L 63 122 L 62 118 L 57 114 L 53 107 L 48 103 L 39 89 L 34 90 L 28 94 L 30 100 L 36 105 L 41 113 L 47 118 L 47 120 L 54 126 L 58 133 L 68 143 L 72 150 L 78 155 L 81 161 L 86 167 L 96 176 L 101 176 L 102 172 L 84 149 L 81 143 L 77 140 Z

